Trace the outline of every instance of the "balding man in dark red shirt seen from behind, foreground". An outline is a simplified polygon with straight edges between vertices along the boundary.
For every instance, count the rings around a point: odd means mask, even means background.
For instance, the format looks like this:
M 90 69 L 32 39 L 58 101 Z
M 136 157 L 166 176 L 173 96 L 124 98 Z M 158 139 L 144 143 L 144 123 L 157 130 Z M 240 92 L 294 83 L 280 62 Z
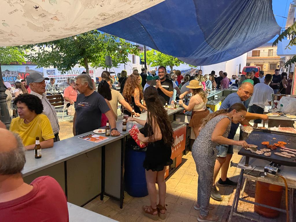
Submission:
M 41 176 L 30 185 L 23 181 L 26 159 L 20 137 L 0 128 L 0 141 L 1 221 L 69 221 L 66 196 L 54 178 Z

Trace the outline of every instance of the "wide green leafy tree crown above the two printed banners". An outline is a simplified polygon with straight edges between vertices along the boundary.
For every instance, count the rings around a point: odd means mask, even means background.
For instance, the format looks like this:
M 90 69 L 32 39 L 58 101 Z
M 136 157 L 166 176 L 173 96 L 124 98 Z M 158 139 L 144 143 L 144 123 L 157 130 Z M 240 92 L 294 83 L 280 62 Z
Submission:
M 85 67 L 87 73 L 89 66 L 119 67 L 129 61 L 128 54 L 139 55 L 140 52 L 138 46 L 97 30 L 24 48 L 29 52 L 26 58 L 38 67 L 54 66 L 62 73 L 71 70 L 76 64 Z M 105 64 L 106 56 L 112 58 L 112 66 Z

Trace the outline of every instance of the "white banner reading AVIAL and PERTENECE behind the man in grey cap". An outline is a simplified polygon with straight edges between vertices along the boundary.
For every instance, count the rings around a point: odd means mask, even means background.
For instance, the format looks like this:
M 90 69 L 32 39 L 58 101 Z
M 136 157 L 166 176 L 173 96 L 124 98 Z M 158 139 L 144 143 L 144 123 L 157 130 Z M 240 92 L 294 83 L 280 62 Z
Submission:
M 80 75 L 83 71 L 86 71 L 84 67 L 81 68 L 72 68 L 72 70 L 67 71 L 66 73 L 61 73 L 56 68 L 53 69 L 43 69 L 44 77 L 55 78 L 55 84 L 65 82 L 67 78 L 75 78 L 77 75 Z M 90 77 L 96 81 L 95 69 L 89 68 Z

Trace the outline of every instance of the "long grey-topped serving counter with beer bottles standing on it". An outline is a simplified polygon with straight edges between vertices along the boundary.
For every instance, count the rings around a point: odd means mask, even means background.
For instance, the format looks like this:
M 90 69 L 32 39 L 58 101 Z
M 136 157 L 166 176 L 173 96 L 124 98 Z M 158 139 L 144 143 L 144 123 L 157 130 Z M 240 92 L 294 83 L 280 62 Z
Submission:
M 234 90 L 215 90 L 208 95 L 213 99 L 215 95 L 225 96 Z M 168 110 L 170 120 L 176 120 L 176 114 L 183 113 L 183 107 Z M 140 120 L 147 119 L 147 112 L 142 113 Z M 125 143 L 129 136 L 129 129 L 136 124 L 127 123 L 127 131 L 122 131 L 122 122 L 116 125 L 120 136 L 109 136 L 99 143 L 86 141 L 78 137 L 83 133 L 54 143 L 54 147 L 42 149 L 42 157 L 35 159 L 34 151 L 26 151 L 26 164 L 22 171 L 24 181 L 31 183 L 39 176 L 52 176 L 65 191 L 68 202 L 83 206 L 97 196 L 104 195 L 120 201 L 123 207 L 124 198 L 124 161 Z M 93 132 L 89 132 L 93 133 Z M 104 136 L 104 134 L 102 135 Z

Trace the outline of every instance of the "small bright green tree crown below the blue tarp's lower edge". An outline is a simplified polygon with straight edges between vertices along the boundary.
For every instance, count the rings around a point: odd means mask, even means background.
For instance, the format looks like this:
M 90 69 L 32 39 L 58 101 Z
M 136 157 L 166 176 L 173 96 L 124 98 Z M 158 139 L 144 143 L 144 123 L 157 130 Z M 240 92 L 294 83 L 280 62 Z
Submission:
M 140 57 L 141 60 L 144 61 L 144 53 L 141 53 Z M 184 62 L 180 59 L 167 54 L 163 54 L 162 52 L 158 52 L 154 49 L 146 52 L 146 62 L 151 66 L 169 66 L 171 71 L 173 70 L 173 66 L 184 64 Z

